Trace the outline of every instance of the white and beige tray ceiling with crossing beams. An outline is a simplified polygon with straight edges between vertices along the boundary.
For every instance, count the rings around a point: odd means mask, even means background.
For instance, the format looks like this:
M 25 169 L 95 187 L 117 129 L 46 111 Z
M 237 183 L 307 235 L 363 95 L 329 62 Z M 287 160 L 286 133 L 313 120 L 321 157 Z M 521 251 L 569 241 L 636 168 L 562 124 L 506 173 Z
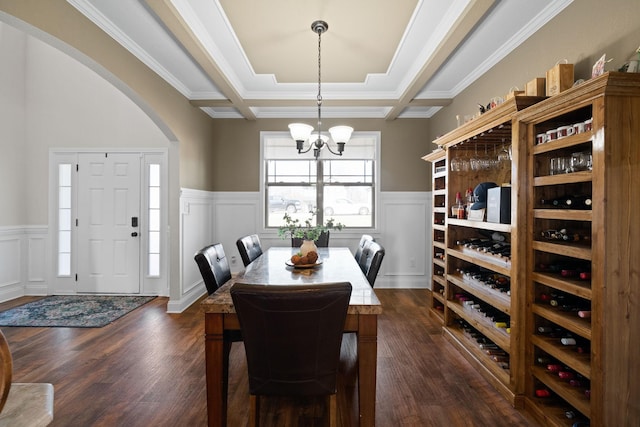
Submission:
M 428 118 L 573 0 L 67 0 L 213 118 Z M 505 88 L 505 92 L 509 88 Z

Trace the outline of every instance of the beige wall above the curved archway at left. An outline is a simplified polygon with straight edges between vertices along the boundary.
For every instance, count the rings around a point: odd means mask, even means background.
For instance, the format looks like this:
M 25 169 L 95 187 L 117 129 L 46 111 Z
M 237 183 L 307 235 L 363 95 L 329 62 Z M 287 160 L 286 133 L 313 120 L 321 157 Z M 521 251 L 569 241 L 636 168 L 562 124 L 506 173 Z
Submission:
M 169 139 L 178 142 L 180 167 L 174 166 L 180 171 L 180 186 L 195 188 L 206 180 L 209 172 L 202 153 L 212 141 L 214 124 L 199 108 L 65 0 L 0 0 L 0 11 L 53 36 L 55 39 L 46 34 L 43 38 L 111 81 L 145 110 Z M 42 37 L 37 30 L 29 32 Z M 81 54 L 73 52 L 76 49 Z

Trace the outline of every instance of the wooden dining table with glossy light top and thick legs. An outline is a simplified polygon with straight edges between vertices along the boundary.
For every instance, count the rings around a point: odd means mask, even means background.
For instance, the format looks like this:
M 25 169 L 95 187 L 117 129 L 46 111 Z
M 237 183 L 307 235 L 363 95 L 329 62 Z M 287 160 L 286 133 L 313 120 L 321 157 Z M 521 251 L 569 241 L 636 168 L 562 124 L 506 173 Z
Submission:
M 313 268 L 287 265 L 297 251 L 297 248 L 290 247 L 268 249 L 201 303 L 205 318 L 209 426 L 225 426 L 227 421 L 224 340 L 228 334 L 224 332 L 240 329 L 229 293 L 236 282 L 278 286 L 351 283 L 351 300 L 344 331 L 357 335 L 359 421 L 361 426 L 375 425 L 378 315 L 382 313 L 380 301 L 348 248 L 319 248 L 319 265 Z

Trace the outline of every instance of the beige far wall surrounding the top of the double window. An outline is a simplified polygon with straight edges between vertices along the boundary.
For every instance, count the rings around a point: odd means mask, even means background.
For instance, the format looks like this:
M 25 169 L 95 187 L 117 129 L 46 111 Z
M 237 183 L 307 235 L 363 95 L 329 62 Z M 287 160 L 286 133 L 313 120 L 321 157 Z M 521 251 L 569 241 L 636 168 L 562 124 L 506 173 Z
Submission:
M 214 191 L 258 191 L 260 188 L 260 131 L 287 131 L 294 121 L 308 120 L 216 120 L 215 144 L 211 148 L 213 168 L 206 189 Z M 325 119 L 323 128 L 348 124 L 356 131 L 381 133 L 381 190 L 427 191 L 430 172 L 420 159 L 430 151 L 429 122 L 426 119 Z M 291 150 L 295 150 L 291 142 Z M 345 150 L 349 150 L 347 143 Z M 209 152 L 208 152 L 209 154 Z

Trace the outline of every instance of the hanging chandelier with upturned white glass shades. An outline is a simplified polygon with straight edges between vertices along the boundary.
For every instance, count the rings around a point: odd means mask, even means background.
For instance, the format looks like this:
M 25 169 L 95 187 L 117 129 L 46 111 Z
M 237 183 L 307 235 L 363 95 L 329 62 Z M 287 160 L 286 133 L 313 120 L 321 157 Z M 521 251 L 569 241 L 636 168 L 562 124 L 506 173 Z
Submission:
M 337 151 L 333 151 L 331 146 L 329 145 L 329 136 L 323 134 L 321 131 L 322 125 L 322 73 L 321 73 L 321 41 L 322 41 L 322 33 L 329 29 L 329 25 L 324 21 L 314 21 L 311 24 L 311 30 L 318 34 L 318 130 L 314 132 L 313 126 L 308 125 L 306 123 L 291 123 L 289 125 L 289 131 L 291 132 L 291 137 L 296 141 L 296 148 L 298 149 L 298 154 L 304 154 L 309 152 L 313 148 L 313 156 L 317 159 L 320 156 L 320 150 L 322 148 L 327 147 L 332 154 L 336 156 L 342 156 L 342 152 L 344 151 L 344 145 L 351 138 L 351 133 L 353 132 L 353 128 L 350 126 L 334 126 L 329 128 L 329 135 L 331 135 L 331 139 L 337 145 Z M 304 143 L 305 141 L 309 141 L 309 146 L 305 149 Z

